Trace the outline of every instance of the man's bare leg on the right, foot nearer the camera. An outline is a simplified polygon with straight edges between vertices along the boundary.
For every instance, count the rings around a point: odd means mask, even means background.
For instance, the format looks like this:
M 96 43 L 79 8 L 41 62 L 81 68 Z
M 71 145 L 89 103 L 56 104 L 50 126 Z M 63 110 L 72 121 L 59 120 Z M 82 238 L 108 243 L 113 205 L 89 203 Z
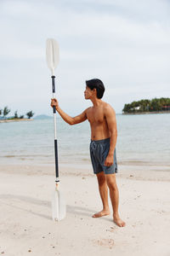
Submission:
M 113 221 L 120 227 L 124 227 L 126 224 L 119 216 L 119 191 L 116 185 L 116 173 L 105 174 L 106 183 L 110 189 L 111 204 L 113 207 Z

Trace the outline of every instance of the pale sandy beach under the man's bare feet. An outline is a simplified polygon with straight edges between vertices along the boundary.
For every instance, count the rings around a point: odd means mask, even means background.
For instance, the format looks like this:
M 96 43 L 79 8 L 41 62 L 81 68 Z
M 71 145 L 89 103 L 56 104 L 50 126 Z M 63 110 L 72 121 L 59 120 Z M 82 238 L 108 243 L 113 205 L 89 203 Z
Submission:
M 75 171 L 75 172 L 73 172 Z M 91 170 L 60 168 L 66 218 L 51 218 L 52 166 L 0 166 L 0 254 L 20 255 L 170 255 L 170 177 L 168 172 L 119 168 L 119 228 L 101 210 Z

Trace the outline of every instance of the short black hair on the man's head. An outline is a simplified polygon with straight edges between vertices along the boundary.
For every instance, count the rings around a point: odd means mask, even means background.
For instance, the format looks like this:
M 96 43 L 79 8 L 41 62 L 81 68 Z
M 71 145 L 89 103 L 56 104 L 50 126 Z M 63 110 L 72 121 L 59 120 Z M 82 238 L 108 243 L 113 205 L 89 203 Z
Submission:
M 90 90 L 94 90 L 94 88 L 97 90 L 97 97 L 98 99 L 101 99 L 104 95 L 105 86 L 103 82 L 99 79 L 91 79 L 86 81 L 86 85 Z

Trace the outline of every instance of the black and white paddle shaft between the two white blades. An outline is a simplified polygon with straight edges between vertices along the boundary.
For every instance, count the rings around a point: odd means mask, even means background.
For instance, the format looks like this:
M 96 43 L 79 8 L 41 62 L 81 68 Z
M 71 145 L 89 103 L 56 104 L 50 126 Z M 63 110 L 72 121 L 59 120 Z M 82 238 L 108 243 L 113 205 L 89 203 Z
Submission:
M 55 76 L 52 76 L 52 90 L 53 90 L 53 95 L 55 93 Z M 53 107 L 53 112 L 56 114 L 56 109 Z M 54 122 L 56 120 L 54 119 Z M 54 125 L 55 127 L 55 125 Z M 56 183 L 59 182 L 59 163 L 58 163 L 58 146 L 57 146 L 57 138 L 56 138 L 56 131 L 54 131 L 54 154 L 55 154 L 55 177 L 56 177 Z

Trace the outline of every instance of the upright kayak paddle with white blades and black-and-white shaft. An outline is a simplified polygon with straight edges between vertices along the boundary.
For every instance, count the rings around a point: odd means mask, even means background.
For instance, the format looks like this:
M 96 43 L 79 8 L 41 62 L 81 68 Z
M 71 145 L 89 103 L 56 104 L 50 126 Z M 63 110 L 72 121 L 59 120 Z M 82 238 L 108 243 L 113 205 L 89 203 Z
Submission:
M 47 64 L 52 73 L 52 90 L 53 98 L 55 97 L 55 76 L 54 70 L 59 64 L 59 44 L 52 38 L 47 39 L 46 44 L 46 57 Z M 59 191 L 59 165 L 58 165 L 58 147 L 57 147 L 57 132 L 56 132 L 56 109 L 53 108 L 54 112 L 54 154 L 55 154 L 55 190 L 52 199 L 52 218 L 55 221 L 59 221 L 65 218 L 66 206 L 65 199 L 62 193 Z

